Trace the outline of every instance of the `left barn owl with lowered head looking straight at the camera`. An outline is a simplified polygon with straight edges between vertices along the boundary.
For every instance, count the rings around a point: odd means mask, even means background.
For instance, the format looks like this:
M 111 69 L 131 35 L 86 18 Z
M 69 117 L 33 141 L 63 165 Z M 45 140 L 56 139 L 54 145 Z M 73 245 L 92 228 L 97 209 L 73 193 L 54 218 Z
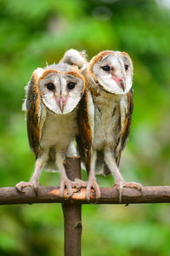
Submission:
M 39 186 L 39 176 L 49 162 L 61 172 L 59 195 L 66 187 L 73 193 L 74 182 L 66 176 L 64 160 L 71 151 L 71 140 L 77 136 L 77 105 L 85 90 L 82 75 L 66 64 L 37 68 L 26 87 L 27 132 L 30 147 L 36 155 L 35 170 L 29 182 L 17 183 L 22 191 L 26 186 Z M 68 149 L 69 148 L 69 149 Z

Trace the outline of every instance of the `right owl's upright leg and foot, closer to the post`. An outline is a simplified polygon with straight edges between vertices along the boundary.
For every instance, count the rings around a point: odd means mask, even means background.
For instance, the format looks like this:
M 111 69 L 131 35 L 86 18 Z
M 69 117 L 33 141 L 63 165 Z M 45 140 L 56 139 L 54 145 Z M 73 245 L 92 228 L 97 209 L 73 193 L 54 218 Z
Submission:
M 87 189 L 86 189 L 86 198 L 88 199 L 88 201 L 90 200 L 91 189 L 94 189 L 96 199 L 98 200 L 100 198 L 100 189 L 99 189 L 99 185 L 96 181 L 95 171 L 94 171 L 95 170 L 96 157 L 97 157 L 97 154 L 96 154 L 96 151 L 94 151 L 93 154 L 92 154 L 92 157 L 91 157 L 91 161 L 90 161 L 88 186 L 87 186 Z

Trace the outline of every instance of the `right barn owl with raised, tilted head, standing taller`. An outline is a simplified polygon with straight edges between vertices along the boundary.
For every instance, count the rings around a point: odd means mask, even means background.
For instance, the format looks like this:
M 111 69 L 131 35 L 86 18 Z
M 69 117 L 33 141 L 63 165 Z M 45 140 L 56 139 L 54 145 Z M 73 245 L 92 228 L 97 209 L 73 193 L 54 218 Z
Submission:
M 89 62 L 85 78 L 91 95 L 83 96 L 79 145 L 89 172 L 86 197 L 90 198 L 92 188 L 100 197 L 95 172 L 111 173 L 121 202 L 123 187 L 142 188 L 139 183 L 125 182 L 118 169 L 133 113 L 133 63 L 127 53 L 105 50 Z

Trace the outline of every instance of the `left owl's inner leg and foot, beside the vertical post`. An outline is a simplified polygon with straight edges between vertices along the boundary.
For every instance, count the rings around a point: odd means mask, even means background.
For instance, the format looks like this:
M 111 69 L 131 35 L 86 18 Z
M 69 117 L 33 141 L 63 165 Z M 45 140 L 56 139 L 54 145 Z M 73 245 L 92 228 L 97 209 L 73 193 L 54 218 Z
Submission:
M 59 196 L 63 197 L 65 187 L 67 189 L 67 195 L 68 197 L 71 197 L 73 195 L 73 189 L 72 189 L 72 182 L 67 177 L 65 172 L 65 166 L 63 164 L 63 158 L 60 153 L 56 154 L 56 164 L 59 168 L 59 172 L 61 172 L 61 178 L 60 178 L 60 184 L 59 184 Z

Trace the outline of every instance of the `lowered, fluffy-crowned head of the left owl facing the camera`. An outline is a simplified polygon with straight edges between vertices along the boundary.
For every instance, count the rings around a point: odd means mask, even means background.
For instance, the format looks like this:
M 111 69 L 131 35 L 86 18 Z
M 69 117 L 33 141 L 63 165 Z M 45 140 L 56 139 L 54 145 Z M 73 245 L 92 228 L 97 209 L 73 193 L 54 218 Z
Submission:
M 85 90 L 82 75 L 64 66 L 52 65 L 34 72 L 43 104 L 56 114 L 71 113 Z

